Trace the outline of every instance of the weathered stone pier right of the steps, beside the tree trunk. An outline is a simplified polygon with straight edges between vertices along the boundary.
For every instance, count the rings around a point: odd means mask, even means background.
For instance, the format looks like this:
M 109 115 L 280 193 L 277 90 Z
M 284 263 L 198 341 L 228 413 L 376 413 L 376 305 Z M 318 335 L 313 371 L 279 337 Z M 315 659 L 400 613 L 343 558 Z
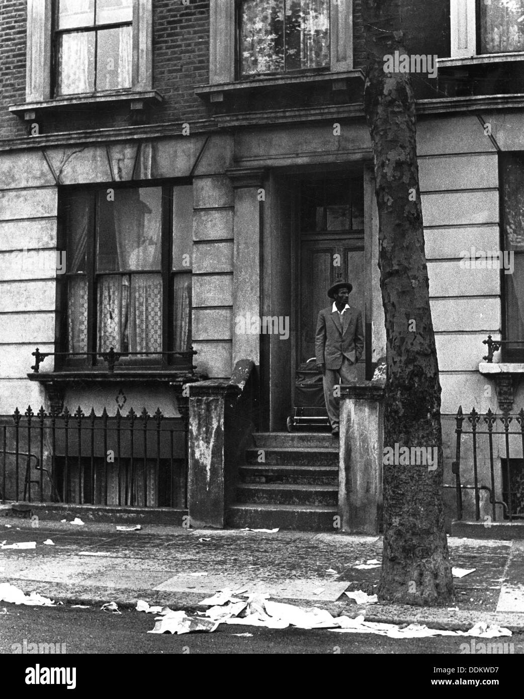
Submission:
M 382 510 L 384 388 L 340 389 L 340 471 L 338 513 L 342 531 L 377 534 Z

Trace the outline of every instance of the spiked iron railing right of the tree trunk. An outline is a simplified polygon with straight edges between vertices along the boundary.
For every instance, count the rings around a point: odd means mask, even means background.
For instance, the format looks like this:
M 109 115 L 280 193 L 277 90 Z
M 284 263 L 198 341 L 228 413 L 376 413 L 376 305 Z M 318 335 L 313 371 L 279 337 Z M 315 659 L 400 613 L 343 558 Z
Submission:
M 488 410 L 485 415 L 480 415 L 473 408 L 469 415 L 463 415 L 462 406 L 460 406 L 455 419 L 456 457 L 452 470 L 456 479 L 457 519 L 463 519 L 464 490 L 474 491 L 476 521 L 481 519 L 481 491 L 489 493 L 491 521 L 497 521 L 496 505 L 502 506 L 503 519 L 509 519 L 509 521 L 524 519 L 524 409 L 518 414 L 511 415 L 509 412 L 497 415 L 492 410 Z M 517 425 L 518 428 L 516 428 Z M 511 427 L 516 429 L 512 430 Z M 504 457 L 498 457 L 500 464 L 495 464 L 494 456 L 494 441 L 499 439 L 497 435 L 501 436 L 501 447 L 504 446 L 504 449 L 501 449 Z M 463 485 L 460 480 L 461 459 L 464 462 L 463 438 L 471 439 L 472 485 Z M 486 456 L 489 460 L 489 469 L 486 468 Z M 479 468 L 479 458 L 482 461 L 481 468 Z M 502 492 L 501 500 L 495 499 L 497 491 Z

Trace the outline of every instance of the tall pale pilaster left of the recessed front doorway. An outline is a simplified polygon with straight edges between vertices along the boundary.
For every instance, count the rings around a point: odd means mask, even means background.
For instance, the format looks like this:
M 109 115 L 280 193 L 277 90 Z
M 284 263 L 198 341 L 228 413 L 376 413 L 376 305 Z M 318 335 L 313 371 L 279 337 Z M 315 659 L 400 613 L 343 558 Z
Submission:
M 260 335 L 252 334 L 251 319 L 261 317 L 260 247 L 262 214 L 260 190 L 264 172 L 259 168 L 235 168 L 226 171 L 235 192 L 233 224 L 233 363 L 252 359 L 260 364 Z M 249 327 L 245 333 L 235 333 L 236 319 L 242 317 Z

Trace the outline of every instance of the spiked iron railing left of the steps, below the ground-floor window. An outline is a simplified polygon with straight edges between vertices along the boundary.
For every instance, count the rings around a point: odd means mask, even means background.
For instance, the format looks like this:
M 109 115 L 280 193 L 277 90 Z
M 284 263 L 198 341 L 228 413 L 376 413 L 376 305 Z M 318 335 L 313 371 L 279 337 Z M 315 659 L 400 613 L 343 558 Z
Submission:
M 3 502 L 183 508 L 187 426 L 159 408 L 112 417 L 105 408 L 101 415 L 17 408 L 0 426 L 0 479 Z

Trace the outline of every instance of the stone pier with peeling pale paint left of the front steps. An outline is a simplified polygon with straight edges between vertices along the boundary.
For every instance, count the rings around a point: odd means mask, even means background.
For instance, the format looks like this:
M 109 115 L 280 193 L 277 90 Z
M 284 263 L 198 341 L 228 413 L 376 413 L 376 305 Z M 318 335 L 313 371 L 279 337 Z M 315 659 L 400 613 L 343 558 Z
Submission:
M 193 527 L 224 528 L 224 412 L 239 393 L 227 381 L 186 384 L 189 389 L 187 510 Z

